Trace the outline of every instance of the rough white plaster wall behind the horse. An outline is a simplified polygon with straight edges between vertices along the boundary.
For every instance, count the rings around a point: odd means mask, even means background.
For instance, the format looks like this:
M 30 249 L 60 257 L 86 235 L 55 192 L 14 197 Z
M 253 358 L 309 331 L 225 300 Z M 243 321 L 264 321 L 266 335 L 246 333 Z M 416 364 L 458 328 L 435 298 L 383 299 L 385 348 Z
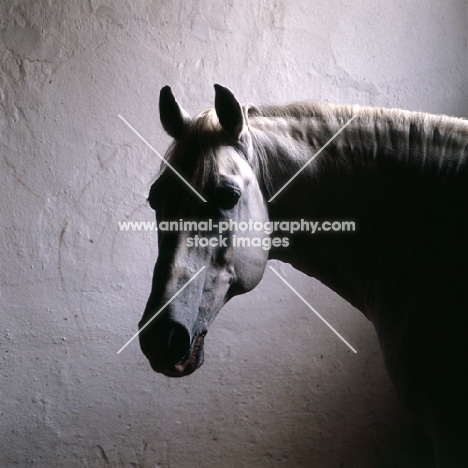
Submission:
M 136 331 L 157 255 L 145 202 L 159 89 L 192 114 L 315 99 L 468 115 L 466 1 L 2 0 L 0 466 L 418 467 L 372 327 L 277 268 L 210 329 L 194 375 L 153 373 Z M 426 455 L 425 455 L 426 454 Z

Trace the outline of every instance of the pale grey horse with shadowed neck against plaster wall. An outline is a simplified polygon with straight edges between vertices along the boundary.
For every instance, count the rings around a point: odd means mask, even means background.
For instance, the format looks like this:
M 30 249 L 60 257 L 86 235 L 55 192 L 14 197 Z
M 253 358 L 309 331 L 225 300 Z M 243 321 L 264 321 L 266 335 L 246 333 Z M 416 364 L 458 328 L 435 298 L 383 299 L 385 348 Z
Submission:
M 468 466 L 468 122 L 325 103 L 241 105 L 221 85 L 214 104 L 191 118 L 169 86 L 160 92 L 173 143 L 148 196 L 158 258 L 138 325 L 152 369 L 198 369 L 223 305 L 255 288 L 269 259 L 287 262 L 373 323 L 437 466 Z M 356 229 L 280 229 L 307 219 Z

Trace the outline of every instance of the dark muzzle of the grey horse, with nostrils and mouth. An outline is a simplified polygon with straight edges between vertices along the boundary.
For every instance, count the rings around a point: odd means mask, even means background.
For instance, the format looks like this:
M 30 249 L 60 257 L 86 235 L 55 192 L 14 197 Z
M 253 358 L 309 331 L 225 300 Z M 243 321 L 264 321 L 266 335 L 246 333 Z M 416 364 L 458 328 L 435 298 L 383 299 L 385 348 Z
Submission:
M 140 322 L 139 327 L 142 326 Z M 155 372 L 167 377 L 184 377 L 203 364 L 205 335 L 206 331 L 202 331 L 191 338 L 184 326 L 173 322 L 155 330 L 142 330 L 140 347 Z

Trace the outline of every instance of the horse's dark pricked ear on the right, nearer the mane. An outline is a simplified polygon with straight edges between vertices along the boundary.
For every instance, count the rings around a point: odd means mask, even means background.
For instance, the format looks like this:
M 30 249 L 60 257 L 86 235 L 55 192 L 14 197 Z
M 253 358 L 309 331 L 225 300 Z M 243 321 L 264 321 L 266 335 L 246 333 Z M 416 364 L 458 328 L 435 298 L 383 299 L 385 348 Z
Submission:
M 224 131 L 235 140 L 239 140 L 245 127 L 244 114 L 239 101 L 229 88 L 215 86 L 215 109 L 219 123 Z

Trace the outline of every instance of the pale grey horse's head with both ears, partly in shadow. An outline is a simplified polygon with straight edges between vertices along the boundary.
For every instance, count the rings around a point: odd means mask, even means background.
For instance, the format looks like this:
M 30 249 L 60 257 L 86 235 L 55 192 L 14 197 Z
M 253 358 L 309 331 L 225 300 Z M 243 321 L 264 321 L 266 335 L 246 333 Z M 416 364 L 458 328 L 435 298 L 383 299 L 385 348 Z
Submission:
M 268 260 L 264 242 L 235 242 L 238 223 L 266 222 L 268 212 L 246 110 L 229 89 L 215 90 L 215 109 L 193 119 L 170 87 L 160 93 L 161 123 L 174 142 L 148 198 L 158 258 L 139 338 L 152 368 L 172 377 L 202 365 L 208 327 L 229 299 L 259 283 Z M 252 236 L 268 234 L 242 230 Z

